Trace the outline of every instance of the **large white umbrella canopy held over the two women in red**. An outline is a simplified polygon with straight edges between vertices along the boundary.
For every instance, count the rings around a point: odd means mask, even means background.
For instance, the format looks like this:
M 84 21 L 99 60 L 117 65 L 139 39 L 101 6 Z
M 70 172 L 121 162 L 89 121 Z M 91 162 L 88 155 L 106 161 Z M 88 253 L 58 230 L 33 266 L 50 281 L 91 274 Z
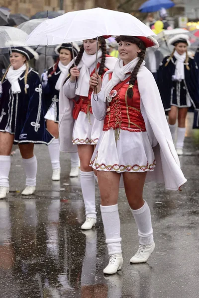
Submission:
M 67 12 L 47 19 L 28 37 L 28 45 L 55 45 L 102 35 L 150 36 L 155 33 L 129 13 L 103 8 Z

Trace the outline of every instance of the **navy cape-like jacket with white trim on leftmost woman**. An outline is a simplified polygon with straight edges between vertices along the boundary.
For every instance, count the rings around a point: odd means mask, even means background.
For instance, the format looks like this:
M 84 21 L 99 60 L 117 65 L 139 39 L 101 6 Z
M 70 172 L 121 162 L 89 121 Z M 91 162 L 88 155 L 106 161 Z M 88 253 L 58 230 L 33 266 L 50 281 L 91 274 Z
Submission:
M 13 94 L 7 79 L 2 82 L 0 105 L 0 131 L 9 127 L 14 134 L 14 144 L 49 144 L 53 137 L 46 130 L 42 104 L 42 87 L 39 76 L 29 69 L 27 94 L 25 93 L 24 74 L 18 82 L 21 92 Z

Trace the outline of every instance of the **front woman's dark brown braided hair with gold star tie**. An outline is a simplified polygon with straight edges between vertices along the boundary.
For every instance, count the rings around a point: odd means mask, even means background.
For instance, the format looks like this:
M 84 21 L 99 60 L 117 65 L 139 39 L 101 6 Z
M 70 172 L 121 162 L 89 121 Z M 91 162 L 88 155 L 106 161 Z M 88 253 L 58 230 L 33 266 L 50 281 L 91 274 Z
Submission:
M 126 42 L 130 42 L 133 44 L 136 44 L 138 46 L 138 48 L 141 50 L 140 53 L 138 53 L 138 57 L 139 57 L 139 61 L 137 62 L 134 70 L 131 73 L 130 76 L 130 80 L 129 80 L 129 85 L 128 85 L 128 90 L 127 90 L 127 96 L 128 98 L 132 98 L 133 97 L 133 86 L 135 84 L 135 81 L 137 79 L 137 73 L 139 71 L 139 68 L 142 64 L 142 62 L 144 61 L 145 58 L 145 54 L 146 54 L 146 46 L 144 45 L 144 43 L 135 36 L 118 36 L 117 38 L 115 38 L 116 42 L 119 43 L 120 41 L 126 41 Z

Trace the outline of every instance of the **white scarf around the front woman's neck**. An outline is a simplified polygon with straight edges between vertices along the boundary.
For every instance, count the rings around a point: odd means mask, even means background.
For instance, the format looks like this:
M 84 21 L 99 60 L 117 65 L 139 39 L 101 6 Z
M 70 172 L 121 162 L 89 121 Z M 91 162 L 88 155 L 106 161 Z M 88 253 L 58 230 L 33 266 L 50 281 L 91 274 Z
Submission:
M 116 86 L 118 83 L 124 81 L 127 77 L 126 74 L 132 73 L 134 70 L 137 62 L 139 61 L 139 57 L 136 57 L 131 62 L 129 62 L 126 65 L 123 65 L 123 60 L 118 59 L 118 61 L 115 64 L 114 71 L 112 73 L 111 79 L 108 81 L 108 83 L 104 86 L 104 102 L 106 102 L 106 97 L 108 97 L 110 91 L 114 86 Z M 145 65 L 145 61 L 142 62 L 142 66 Z M 106 72 L 111 73 L 111 71 Z M 130 75 L 130 74 L 128 74 Z

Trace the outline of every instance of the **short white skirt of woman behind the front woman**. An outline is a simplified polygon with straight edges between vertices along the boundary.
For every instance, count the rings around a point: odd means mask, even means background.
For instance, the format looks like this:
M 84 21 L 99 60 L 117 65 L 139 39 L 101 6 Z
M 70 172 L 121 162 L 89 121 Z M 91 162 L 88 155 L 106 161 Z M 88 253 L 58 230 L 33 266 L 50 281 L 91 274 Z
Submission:
M 103 121 L 97 120 L 93 114 L 80 112 L 73 128 L 74 145 L 96 145 L 103 128 Z

